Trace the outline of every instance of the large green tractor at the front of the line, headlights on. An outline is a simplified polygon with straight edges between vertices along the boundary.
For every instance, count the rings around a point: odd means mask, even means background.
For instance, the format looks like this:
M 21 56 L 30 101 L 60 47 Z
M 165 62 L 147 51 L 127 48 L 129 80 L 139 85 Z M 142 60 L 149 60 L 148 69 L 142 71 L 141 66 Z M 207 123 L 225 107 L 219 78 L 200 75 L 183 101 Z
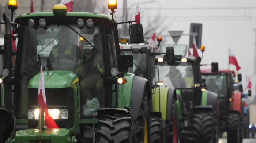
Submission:
M 117 23 L 116 8 L 109 3 L 112 18 L 67 12 L 64 5 L 19 15 L 13 23 L 3 16 L 1 143 L 150 142 L 150 84 L 127 73 L 132 56 L 120 55 L 117 25 L 131 22 Z M 14 13 L 17 5 L 9 9 Z M 18 36 L 11 35 L 11 26 Z M 143 42 L 141 24 L 131 24 L 129 31 L 132 42 Z M 15 67 L 12 39 L 18 39 Z M 66 42 L 66 50 L 59 49 Z M 41 68 L 48 113 L 58 128 L 47 128 L 44 114 L 38 116 Z

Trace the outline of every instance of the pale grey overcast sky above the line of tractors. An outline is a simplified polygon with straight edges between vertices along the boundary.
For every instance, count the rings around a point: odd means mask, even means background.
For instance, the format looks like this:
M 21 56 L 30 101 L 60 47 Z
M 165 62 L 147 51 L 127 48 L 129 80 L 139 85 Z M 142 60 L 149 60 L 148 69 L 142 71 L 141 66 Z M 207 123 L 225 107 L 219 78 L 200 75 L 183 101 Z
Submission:
M 144 1 L 152 0 L 127 0 L 127 7 L 131 8 L 129 14 L 135 15 L 136 3 Z M 123 0 L 117 0 L 118 7 L 123 7 L 122 3 Z M 230 47 L 241 67 L 239 72 L 243 74 L 245 87 L 245 70 L 250 76 L 254 73 L 256 0 L 156 0 L 139 6 L 144 10 L 143 27 L 148 19 L 158 16 L 167 25 L 163 35 L 177 30 L 188 34 L 190 23 L 202 23 L 202 45 L 206 51 L 201 63 L 218 62 L 220 69 L 227 69 Z M 159 36 L 157 32 L 156 36 Z M 163 42 L 174 44 L 170 37 L 165 37 Z M 178 41 L 178 44 L 188 43 L 189 36 L 182 36 Z M 236 68 L 230 65 L 230 69 Z

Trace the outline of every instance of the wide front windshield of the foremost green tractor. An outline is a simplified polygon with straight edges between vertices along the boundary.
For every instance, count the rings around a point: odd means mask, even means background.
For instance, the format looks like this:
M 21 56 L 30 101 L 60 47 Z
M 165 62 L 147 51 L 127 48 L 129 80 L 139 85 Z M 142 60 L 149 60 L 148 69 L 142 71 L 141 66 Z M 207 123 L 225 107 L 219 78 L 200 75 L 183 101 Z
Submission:
M 78 72 L 86 59 L 95 51 L 101 55 L 102 41 L 99 26 L 94 26 L 90 34 L 84 34 L 83 30 L 76 25 L 71 26 L 80 32 L 93 48 L 83 38 L 67 27 L 49 25 L 47 29 L 41 27 L 25 26 L 23 32 L 22 48 L 22 71 L 26 74 L 39 73 L 39 67 L 43 70 L 71 70 Z M 90 30 L 91 30 L 90 29 Z

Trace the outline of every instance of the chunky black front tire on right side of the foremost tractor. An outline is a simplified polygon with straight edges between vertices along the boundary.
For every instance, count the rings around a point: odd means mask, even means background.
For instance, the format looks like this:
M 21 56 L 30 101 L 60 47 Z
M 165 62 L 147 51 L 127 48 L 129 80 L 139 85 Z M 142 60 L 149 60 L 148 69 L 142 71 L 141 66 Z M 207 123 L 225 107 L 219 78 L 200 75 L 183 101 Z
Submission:
M 135 125 L 131 115 L 99 116 L 96 143 L 135 142 Z

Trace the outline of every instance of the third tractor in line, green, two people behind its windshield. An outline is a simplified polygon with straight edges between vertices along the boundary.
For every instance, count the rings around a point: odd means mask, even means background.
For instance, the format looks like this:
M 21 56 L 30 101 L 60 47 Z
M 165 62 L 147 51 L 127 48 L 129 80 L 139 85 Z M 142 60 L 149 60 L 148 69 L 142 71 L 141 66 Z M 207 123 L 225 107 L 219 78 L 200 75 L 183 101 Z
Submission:
M 186 57 L 187 45 L 159 49 L 166 53 L 155 60 L 161 86 L 174 86 L 177 93 L 180 143 L 218 143 L 218 98 L 204 88 L 201 58 Z

